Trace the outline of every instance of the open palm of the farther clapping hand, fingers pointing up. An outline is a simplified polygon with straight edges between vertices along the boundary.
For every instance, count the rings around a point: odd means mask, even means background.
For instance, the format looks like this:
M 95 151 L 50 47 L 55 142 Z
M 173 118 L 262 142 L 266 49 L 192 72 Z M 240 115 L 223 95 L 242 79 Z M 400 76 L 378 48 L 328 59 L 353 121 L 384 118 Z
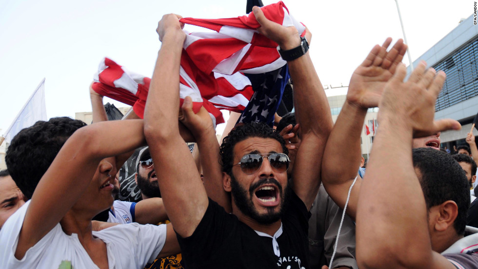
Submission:
M 385 83 L 394 75 L 398 63 L 407 50 L 402 39 L 387 52 L 392 38 L 387 38 L 382 46 L 376 45 L 367 58 L 354 71 L 350 79 L 347 101 L 360 108 L 378 106 L 378 100 Z

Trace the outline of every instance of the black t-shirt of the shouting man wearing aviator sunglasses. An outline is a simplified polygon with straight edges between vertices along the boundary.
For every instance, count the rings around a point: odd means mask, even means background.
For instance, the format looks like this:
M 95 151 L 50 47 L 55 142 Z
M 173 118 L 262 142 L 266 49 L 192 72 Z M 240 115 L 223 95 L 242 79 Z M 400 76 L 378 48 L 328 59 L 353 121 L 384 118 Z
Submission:
M 282 234 L 276 239 L 280 257 L 274 254 L 272 237 L 260 236 L 228 214 L 216 202 L 209 205 L 194 233 L 178 235 L 187 269 L 195 268 L 284 268 L 309 269 L 308 219 L 310 213 L 292 193 L 284 205 Z

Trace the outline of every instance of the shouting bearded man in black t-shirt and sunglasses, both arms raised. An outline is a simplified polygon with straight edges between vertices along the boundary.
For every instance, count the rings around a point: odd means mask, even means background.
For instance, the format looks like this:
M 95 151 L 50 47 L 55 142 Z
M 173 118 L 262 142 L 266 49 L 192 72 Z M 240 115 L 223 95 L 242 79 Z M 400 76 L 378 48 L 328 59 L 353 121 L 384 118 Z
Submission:
M 276 41 L 281 50 L 308 45 L 294 27 L 266 19 L 258 7 L 253 11 L 261 25 L 259 33 Z M 159 188 L 178 235 L 185 267 L 309 268 L 308 210 L 319 189 L 317 164 L 321 163 L 332 129 L 327 98 L 309 54 L 300 50 L 303 55 L 288 61 L 295 82 L 296 116 L 302 128 L 292 180 L 289 182 L 286 173 L 287 148 L 278 133 L 260 123 L 238 127 L 224 139 L 222 178 L 211 184 L 217 186 L 217 192 L 226 194 L 218 197 L 227 198 L 231 193 L 229 200 L 217 201 L 232 205 L 232 214 L 228 214 L 208 199 L 204 188 L 208 188 L 208 181 L 218 178 L 205 174 L 203 186 L 179 135 L 179 62 L 185 40 L 179 17 L 170 14 L 159 21 L 157 32 L 162 43 L 146 103 L 144 134 L 161 173 Z M 306 36 L 310 40 L 308 32 Z M 189 97 L 184 99 L 184 108 L 189 108 L 189 113 L 181 117 L 188 118 L 185 125 L 198 144 L 206 149 L 218 147 L 204 108 L 194 115 Z

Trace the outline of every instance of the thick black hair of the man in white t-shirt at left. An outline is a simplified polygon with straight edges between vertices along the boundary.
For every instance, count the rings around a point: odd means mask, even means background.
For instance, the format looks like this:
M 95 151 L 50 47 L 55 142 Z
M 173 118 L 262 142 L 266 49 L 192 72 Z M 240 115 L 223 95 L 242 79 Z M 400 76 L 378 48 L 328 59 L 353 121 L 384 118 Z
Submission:
M 12 139 L 5 163 L 13 180 L 28 199 L 32 198 L 43 174 L 48 170 L 66 140 L 86 126 L 81 120 L 54 117 L 37 121 Z

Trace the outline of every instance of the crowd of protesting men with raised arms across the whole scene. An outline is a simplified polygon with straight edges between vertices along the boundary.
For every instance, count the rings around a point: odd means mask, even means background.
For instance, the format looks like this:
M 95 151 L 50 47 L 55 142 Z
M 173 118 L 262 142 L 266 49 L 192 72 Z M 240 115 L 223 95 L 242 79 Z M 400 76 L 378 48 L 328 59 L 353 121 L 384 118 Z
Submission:
M 472 133 L 466 153 L 439 150 L 440 132 L 461 128 L 434 120 L 446 75 L 421 62 L 404 81 L 407 46 L 387 38 L 353 73 L 334 124 L 311 33 L 253 13 L 287 59 L 295 112 L 277 130 L 230 126 L 219 144 L 204 107 L 195 113 L 189 96 L 179 106 L 186 33 L 164 15 L 142 119 L 108 121 L 90 88 L 93 124 L 57 117 L 13 138 L 0 172 L 0 268 L 478 268 L 478 150 Z M 119 201 L 118 170 L 144 146 L 142 200 Z

